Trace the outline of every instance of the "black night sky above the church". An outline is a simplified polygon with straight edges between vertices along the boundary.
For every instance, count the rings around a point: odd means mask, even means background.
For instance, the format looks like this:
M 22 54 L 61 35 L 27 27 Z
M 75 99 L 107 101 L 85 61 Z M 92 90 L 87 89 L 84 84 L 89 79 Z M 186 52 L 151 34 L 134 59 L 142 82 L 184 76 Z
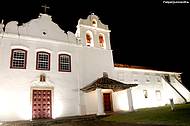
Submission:
M 78 19 L 93 12 L 111 30 L 115 63 L 182 72 L 184 84 L 190 87 L 190 3 L 153 1 L 6 0 L 0 3 L 0 20 L 25 23 L 37 18 L 46 3 L 53 21 L 75 33 Z

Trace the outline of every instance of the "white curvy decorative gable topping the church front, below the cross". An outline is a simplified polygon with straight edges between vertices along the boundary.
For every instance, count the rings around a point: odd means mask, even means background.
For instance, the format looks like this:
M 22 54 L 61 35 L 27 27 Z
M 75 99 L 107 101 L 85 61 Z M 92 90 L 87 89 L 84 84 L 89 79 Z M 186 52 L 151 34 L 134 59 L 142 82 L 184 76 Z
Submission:
M 47 14 L 40 14 L 38 18 L 32 19 L 21 26 L 18 26 L 17 21 L 11 21 L 5 26 L 5 32 L 21 36 L 32 36 L 36 38 L 77 43 L 74 33 L 65 33 L 64 30 L 52 21 L 51 16 Z

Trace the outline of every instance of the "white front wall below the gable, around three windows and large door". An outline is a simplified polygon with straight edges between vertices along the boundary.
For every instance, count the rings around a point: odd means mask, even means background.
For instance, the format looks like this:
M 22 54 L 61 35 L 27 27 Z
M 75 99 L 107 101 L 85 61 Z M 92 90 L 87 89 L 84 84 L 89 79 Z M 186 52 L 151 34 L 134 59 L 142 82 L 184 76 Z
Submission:
M 24 39 L 1 39 L 1 71 L 0 83 L 0 119 L 28 120 L 32 118 L 32 83 L 39 80 L 40 74 L 45 74 L 53 86 L 52 117 L 78 115 L 78 64 L 79 47 L 68 44 L 44 43 Z M 27 50 L 26 69 L 11 69 L 11 49 Z M 51 55 L 50 71 L 36 70 L 37 50 L 47 50 Z M 71 54 L 71 72 L 58 71 L 58 53 Z M 42 88 L 44 88 L 42 86 Z M 10 117 L 11 115 L 11 117 Z

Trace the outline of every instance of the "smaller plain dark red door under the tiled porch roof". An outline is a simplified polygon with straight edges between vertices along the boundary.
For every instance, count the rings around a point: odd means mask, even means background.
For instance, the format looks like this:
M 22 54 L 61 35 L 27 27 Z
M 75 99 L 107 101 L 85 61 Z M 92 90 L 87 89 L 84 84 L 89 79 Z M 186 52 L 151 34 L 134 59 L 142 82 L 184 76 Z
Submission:
M 111 95 L 110 93 L 104 93 L 104 111 L 105 112 L 111 112 L 112 106 L 111 106 Z

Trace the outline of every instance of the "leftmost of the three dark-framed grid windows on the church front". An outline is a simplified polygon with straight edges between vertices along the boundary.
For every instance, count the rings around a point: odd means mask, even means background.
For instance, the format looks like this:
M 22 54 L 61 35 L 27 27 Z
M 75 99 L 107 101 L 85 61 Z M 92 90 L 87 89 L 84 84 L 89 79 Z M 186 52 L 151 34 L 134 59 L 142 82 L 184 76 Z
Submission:
M 26 69 L 27 51 L 24 49 L 12 49 L 10 68 Z

